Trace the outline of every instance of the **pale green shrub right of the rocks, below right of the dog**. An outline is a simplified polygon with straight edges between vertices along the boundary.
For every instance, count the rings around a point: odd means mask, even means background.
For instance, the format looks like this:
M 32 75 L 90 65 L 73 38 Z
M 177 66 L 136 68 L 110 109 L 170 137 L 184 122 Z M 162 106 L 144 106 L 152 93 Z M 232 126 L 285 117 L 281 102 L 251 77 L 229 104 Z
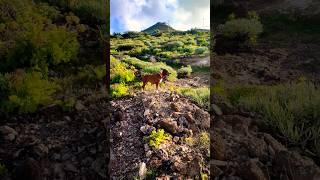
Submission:
M 196 102 L 199 106 L 209 109 L 210 90 L 206 87 L 201 88 L 179 88 L 178 93 L 189 97 Z

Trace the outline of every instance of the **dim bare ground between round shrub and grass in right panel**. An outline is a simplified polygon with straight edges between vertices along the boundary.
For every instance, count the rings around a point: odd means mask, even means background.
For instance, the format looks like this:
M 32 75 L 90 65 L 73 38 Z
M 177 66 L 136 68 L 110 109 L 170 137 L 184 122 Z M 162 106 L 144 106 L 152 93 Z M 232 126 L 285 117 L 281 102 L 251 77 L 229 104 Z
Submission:
M 320 82 L 319 45 L 274 46 L 266 43 L 249 53 L 213 56 L 213 79 L 226 84 L 276 84 L 301 77 Z

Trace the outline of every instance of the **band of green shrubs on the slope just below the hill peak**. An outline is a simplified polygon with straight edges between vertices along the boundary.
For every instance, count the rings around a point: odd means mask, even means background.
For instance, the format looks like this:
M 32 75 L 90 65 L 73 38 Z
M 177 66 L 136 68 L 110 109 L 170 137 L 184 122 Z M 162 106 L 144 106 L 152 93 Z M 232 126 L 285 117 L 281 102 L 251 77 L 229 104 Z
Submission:
M 111 38 L 112 55 L 129 55 L 139 59 L 143 59 L 145 55 L 154 55 L 163 59 L 209 55 L 209 32 L 164 32 L 158 35 L 135 32 L 134 35 L 131 34 L 126 33 L 122 36 L 115 34 Z

